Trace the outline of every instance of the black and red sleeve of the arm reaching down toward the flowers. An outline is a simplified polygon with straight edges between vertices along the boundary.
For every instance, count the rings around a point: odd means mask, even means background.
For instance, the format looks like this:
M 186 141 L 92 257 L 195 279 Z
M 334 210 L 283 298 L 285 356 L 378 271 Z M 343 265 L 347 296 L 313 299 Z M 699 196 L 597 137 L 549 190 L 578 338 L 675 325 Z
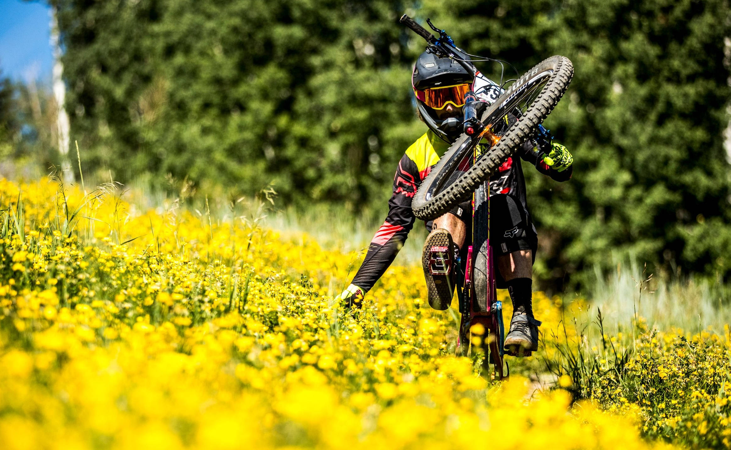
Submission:
M 371 290 L 393 262 L 396 253 L 404 246 L 416 220 L 411 202 L 420 184 L 416 164 L 409 156 L 404 155 L 398 162 L 398 169 L 393 179 L 393 194 L 388 201 L 388 216 L 368 245 L 366 259 L 352 281 L 353 285 L 363 290 L 363 294 Z

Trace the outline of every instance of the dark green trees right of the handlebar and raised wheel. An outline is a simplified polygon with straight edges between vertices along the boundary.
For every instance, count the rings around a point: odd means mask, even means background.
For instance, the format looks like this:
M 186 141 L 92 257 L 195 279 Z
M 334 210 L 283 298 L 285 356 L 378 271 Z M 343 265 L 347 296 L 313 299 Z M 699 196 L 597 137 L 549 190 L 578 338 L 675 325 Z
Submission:
M 656 263 L 655 272 L 727 278 L 727 1 L 425 6 L 472 53 L 515 61 L 521 74 L 553 54 L 574 63 L 569 92 L 545 123 L 574 154 L 574 177 L 558 184 L 526 170 L 542 277 L 586 282 L 614 252 Z

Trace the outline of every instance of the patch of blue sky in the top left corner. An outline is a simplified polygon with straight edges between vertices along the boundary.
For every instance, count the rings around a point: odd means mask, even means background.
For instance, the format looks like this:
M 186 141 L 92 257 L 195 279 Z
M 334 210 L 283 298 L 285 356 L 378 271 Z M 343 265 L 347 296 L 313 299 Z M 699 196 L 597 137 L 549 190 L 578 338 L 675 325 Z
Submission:
M 27 74 L 50 79 L 50 8 L 38 1 L 0 0 L 0 71 L 25 81 Z

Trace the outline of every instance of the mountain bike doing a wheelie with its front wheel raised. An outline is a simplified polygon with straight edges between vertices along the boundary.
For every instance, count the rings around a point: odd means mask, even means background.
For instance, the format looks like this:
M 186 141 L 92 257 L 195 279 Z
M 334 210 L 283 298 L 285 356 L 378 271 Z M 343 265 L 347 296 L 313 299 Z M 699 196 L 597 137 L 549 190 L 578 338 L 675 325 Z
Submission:
M 457 47 L 447 32 L 436 28 L 427 19 L 435 37 L 408 15 L 399 20 L 427 42 L 427 51 L 440 58 L 457 61 L 475 77 L 482 77 L 472 64 L 475 61 L 498 61 L 466 53 Z M 551 56 L 534 66 L 510 86 L 501 84 L 493 91 L 492 103 L 480 102 L 468 93 L 463 107 L 462 134 L 431 169 L 412 199 L 415 216 L 431 220 L 447 213 L 452 207 L 471 197 L 472 236 L 466 261 L 453 264 L 451 249 L 434 246 L 425 263 L 433 275 L 447 275 L 458 267 L 459 327 L 458 351 L 471 353 L 473 331 L 482 328 L 480 347 L 485 352 L 483 369 L 493 365 L 493 378 L 507 377 L 510 367 L 504 358 L 504 323 L 502 305 L 496 297 L 496 276 L 490 246 L 490 186 L 489 179 L 500 165 L 526 140 L 545 138 L 541 123 L 556 107 L 568 88 L 574 69 L 564 56 Z M 454 121 L 459 121 L 457 118 Z M 482 327 L 480 327 L 481 325 Z M 516 355 L 519 356 L 519 355 Z M 530 352 L 522 356 L 530 356 Z M 507 370 L 506 370 L 507 369 Z

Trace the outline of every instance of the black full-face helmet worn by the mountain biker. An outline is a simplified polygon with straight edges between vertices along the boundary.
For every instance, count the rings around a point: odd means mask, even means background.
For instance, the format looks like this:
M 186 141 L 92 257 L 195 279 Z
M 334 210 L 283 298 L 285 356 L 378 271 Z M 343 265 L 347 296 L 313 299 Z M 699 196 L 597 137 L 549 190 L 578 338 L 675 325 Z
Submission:
M 437 136 L 451 142 L 456 137 L 455 133 L 459 134 L 459 130 L 456 128 L 439 128 L 445 124 L 436 118 L 434 109 L 427 105 L 427 90 L 429 88 L 461 86 L 464 84 L 469 85 L 466 90 L 471 90 L 473 83 L 474 75 L 467 72 L 457 61 L 453 61 L 450 58 L 439 58 L 433 53 L 424 52 L 416 60 L 414 73 L 412 74 L 412 88 L 414 88 L 414 95 L 417 99 L 417 110 L 426 123 L 426 126 L 436 133 Z M 461 106 L 454 102 L 451 103 L 455 106 Z

